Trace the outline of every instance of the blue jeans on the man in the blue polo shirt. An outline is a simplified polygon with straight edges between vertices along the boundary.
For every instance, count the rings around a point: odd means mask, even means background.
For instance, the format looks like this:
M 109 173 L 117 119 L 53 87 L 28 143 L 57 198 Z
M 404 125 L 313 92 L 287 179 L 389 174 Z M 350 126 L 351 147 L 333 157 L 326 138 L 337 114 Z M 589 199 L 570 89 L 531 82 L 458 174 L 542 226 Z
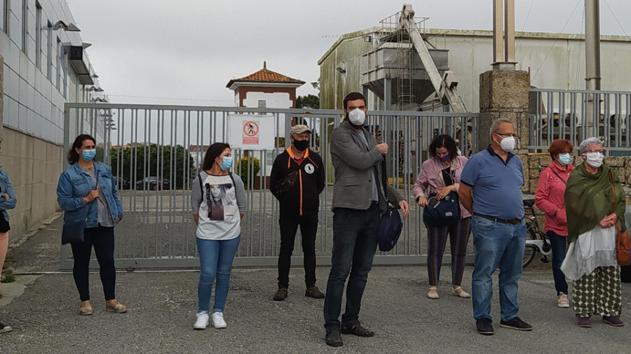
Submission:
M 499 268 L 499 292 L 501 319 L 517 317 L 520 306 L 517 304 L 517 290 L 522 276 L 522 260 L 526 245 L 526 223 L 510 225 L 473 216 L 473 246 L 475 262 L 471 281 L 473 317 L 491 318 L 491 297 L 493 281 L 491 275 Z

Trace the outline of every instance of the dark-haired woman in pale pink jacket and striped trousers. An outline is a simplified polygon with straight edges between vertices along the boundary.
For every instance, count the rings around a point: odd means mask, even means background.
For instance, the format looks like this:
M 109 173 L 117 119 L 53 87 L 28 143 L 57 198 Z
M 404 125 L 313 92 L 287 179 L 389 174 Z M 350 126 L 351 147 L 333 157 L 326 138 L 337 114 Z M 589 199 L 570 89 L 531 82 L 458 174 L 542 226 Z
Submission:
M 458 155 L 456 142 L 449 135 L 436 136 L 429 146 L 430 160 L 423 162 L 419 178 L 414 183 L 416 203 L 427 206 L 426 194 L 436 193 L 437 199 L 443 199 L 449 192 L 457 192 L 460 186 L 460 174 L 467 158 Z M 429 291 L 427 297 L 438 298 L 438 278 L 442 256 L 445 254 L 447 234 L 452 246 L 452 294 L 459 297 L 471 297 L 461 288 L 462 276 L 467 253 L 467 243 L 471 233 L 471 214 L 460 204 L 460 218 L 452 225 L 443 227 L 429 226 L 427 270 Z

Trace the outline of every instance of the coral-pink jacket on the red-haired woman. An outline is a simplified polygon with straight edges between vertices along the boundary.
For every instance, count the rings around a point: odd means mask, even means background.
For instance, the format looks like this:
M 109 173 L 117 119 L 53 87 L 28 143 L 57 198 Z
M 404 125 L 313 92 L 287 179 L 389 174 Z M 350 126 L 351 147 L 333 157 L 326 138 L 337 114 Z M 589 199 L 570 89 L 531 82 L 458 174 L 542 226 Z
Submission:
M 567 215 L 565 215 L 565 183 L 570 172 L 574 169 L 571 164 L 567 165 L 567 171 L 563 171 L 557 164 L 552 162 L 541 171 L 537 191 L 535 193 L 535 203 L 537 208 L 545 213 L 544 232 L 552 231 L 559 236 L 567 236 Z M 559 174 L 563 180 L 555 174 Z

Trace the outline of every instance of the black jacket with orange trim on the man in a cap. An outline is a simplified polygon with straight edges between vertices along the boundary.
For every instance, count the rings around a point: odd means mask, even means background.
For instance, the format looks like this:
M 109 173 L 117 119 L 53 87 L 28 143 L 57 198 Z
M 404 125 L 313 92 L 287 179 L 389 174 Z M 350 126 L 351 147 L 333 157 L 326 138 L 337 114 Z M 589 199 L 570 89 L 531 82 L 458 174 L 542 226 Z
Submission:
M 278 181 L 292 171 L 298 171 L 296 183 L 282 194 L 276 190 Z M 271 170 L 269 190 L 280 201 L 280 211 L 287 215 L 318 213 L 320 192 L 325 185 L 325 171 L 320 155 L 307 149 L 300 164 L 291 147 L 276 157 Z

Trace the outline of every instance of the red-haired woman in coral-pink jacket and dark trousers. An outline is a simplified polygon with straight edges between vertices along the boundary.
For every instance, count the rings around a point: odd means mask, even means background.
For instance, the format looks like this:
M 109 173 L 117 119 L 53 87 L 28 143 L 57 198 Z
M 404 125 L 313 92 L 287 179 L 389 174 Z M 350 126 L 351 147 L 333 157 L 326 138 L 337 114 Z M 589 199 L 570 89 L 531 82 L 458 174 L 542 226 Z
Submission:
M 567 237 L 567 216 L 565 215 L 565 185 L 570 172 L 572 143 L 558 139 L 550 144 L 552 163 L 545 167 L 539 176 L 535 202 L 537 208 L 545 213 L 544 232 L 548 234 L 552 245 L 552 275 L 557 289 L 557 305 L 569 307 L 567 298 L 567 283 L 561 271 L 561 264 L 565 258 Z

